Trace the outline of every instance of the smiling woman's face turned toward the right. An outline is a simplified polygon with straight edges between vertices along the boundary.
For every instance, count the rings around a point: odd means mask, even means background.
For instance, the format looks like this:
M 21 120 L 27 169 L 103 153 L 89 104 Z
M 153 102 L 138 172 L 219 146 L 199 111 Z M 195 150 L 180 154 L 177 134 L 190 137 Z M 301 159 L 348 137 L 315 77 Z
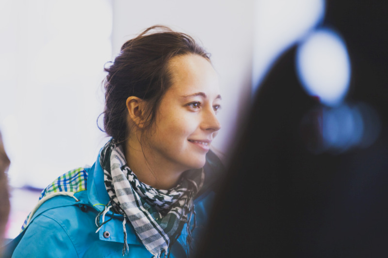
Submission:
M 155 161 L 180 171 L 200 168 L 221 128 L 218 76 L 208 60 L 192 54 L 173 58 L 169 68 L 172 85 L 143 139 Z

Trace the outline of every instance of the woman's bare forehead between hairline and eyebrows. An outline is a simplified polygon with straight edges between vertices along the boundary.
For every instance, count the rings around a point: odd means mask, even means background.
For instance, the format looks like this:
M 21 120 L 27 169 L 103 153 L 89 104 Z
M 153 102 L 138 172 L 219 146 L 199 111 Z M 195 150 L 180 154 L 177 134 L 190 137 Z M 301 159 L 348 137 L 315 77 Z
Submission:
M 192 94 L 197 91 L 207 95 L 219 94 L 218 75 L 210 61 L 199 55 L 174 57 L 169 63 L 171 91 Z

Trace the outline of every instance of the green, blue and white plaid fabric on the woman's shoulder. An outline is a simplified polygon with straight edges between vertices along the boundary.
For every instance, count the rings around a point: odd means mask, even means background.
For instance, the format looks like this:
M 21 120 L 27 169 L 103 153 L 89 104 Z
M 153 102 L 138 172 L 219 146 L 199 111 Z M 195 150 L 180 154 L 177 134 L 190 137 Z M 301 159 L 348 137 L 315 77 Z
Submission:
M 45 196 L 48 196 L 52 193 L 57 192 L 73 192 L 78 193 L 86 190 L 88 173 L 85 171 L 83 167 L 76 168 L 74 170 L 70 170 L 66 172 L 64 175 L 58 177 L 54 182 L 50 183 L 41 193 L 39 200 Z M 21 227 L 23 231 L 27 226 L 28 218 L 30 214 L 27 216 L 26 220 Z

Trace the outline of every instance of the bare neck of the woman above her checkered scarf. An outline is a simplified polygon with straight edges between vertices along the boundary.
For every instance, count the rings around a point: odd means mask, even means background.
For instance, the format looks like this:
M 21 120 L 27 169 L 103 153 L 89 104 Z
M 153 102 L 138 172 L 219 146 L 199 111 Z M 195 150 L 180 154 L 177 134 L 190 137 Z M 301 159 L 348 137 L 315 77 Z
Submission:
M 143 147 L 143 148 L 142 148 Z M 139 181 L 154 188 L 168 190 L 178 184 L 184 169 L 174 168 L 170 163 L 153 155 L 152 150 L 135 140 L 129 139 L 124 150 L 128 167 Z

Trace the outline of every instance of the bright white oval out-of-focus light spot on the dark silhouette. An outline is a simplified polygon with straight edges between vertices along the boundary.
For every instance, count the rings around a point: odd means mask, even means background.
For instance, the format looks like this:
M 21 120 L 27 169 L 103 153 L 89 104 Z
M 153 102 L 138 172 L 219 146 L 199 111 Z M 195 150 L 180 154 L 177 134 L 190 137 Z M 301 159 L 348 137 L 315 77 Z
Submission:
M 339 105 L 348 91 L 351 74 L 349 55 L 339 35 L 333 30 L 316 30 L 299 46 L 296 58 L 307 93 L 319 96 L 327 106 Z

